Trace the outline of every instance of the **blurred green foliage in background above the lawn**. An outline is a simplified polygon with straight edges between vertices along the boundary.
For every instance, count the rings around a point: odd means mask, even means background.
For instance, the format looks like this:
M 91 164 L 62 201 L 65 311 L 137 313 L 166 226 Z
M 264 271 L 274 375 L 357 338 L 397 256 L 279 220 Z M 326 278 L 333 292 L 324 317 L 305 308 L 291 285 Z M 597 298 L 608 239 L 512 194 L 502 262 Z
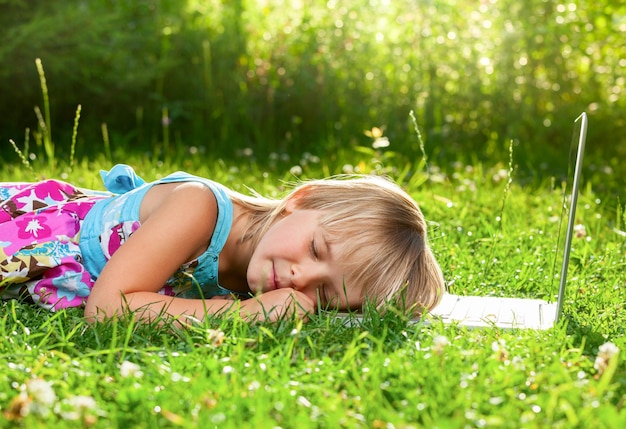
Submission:
M 619 3 L 619 4 L 618 4 Z M 81 154 L 201 146 L 313 152 L 368 145 L 431 160 L 539 168 L 590 115 L 588 156 L 626 156 L 626 5 L 613 0 L 0 0 L 0 157 L 39 126 Z

